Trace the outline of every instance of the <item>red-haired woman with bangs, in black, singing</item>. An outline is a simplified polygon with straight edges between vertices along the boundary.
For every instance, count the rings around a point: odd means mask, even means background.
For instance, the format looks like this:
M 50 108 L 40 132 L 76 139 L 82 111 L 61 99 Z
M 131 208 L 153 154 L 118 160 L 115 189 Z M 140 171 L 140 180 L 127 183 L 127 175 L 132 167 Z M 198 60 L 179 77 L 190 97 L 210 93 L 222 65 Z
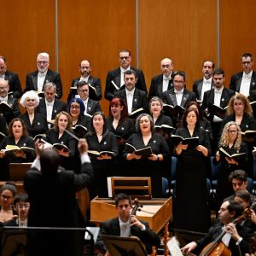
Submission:
M 119 154 L 116 158 L 113 173 L 123 176 L 123 149 L 128 137 L 134 132 L 134 122 L 128 118 L 125 102 L 122 98 L 115 96 L 109 103 L 110 116 L 107 119 L 108 131 L 113 132 L 119 145 Z

